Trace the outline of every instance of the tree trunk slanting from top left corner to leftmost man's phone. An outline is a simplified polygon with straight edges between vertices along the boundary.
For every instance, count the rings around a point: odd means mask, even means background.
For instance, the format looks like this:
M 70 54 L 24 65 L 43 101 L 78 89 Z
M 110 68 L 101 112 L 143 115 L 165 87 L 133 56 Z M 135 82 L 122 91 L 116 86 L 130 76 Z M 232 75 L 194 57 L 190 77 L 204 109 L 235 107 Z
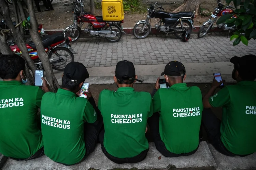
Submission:
M 21 50 L 22 55 L 25 58 L 29 69 L 32 71 L 34 75 L 36 66 L 34 65 L 34 62 L 31 59 L 31 57 L 29 56 L 28 49 L 26 47 L 26 44 L 22 35 L 20 34 L 19 30 L 13 26 L 12 19 L 10 17 L 9 6 L 5 0 L 0 0 L 0 5 L 1 5 L 2 14 L 6 20 L 6 23 L 10 29 L 11 34 L 13 35 L 14 41 L 18 45 L 19 49 Z

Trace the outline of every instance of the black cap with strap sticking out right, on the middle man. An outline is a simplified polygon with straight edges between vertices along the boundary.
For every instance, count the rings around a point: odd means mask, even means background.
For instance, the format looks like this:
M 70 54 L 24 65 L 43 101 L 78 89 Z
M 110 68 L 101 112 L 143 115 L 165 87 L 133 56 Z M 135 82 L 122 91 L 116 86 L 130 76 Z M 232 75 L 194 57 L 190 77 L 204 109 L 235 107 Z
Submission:
M 130 80 L 134 81 L 137 80 L 138 82 L 143 82 L 141 80 L 135 79 L 135 68 L 132 62 L 127 60 L 120 61 L 116 64 L 116 73 L 115 76 L 118 80 Z

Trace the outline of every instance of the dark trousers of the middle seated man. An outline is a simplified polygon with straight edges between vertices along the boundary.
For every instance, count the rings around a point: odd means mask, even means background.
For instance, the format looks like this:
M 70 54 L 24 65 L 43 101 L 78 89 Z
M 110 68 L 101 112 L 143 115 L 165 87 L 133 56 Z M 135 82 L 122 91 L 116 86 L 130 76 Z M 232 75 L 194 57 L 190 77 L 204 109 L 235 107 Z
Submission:
M 141 162 L 142 160 L 144 160 L 147 156 L 147 152 L 148 152 L 148 149 L 142 151 L 139 155 L 137 156 L 134 156 L 134 157 L 131 157 L 131 158 L 117 158 L 115 156 L 112 156 L 110 155 L 104 145 L 103 145 L 103 142 L 104 142 L 104 133 L 105 133 L 105 130 L 102 130 L 100 132 L 100 135 L 99 135 L 99 140 L 100 140 L 100 143 L 101 143 L 101 150 L 102 152 L 104 153 L 104 155 L 109 158 L 112 162 L 116 163 L 116 164 L 124 164 L 124 163 L 138 163 L 138 162 Z

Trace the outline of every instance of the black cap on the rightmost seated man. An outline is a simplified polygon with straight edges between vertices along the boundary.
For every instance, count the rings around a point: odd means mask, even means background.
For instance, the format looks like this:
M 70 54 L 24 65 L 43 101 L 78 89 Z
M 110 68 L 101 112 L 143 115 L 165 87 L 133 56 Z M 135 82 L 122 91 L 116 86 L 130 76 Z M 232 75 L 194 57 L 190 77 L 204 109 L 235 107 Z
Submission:
M 253 54 L 244 55 L 242 57 L 234 56 L 230 59 L 235 69 L 241 74 L 256 75 L 256 56 Z

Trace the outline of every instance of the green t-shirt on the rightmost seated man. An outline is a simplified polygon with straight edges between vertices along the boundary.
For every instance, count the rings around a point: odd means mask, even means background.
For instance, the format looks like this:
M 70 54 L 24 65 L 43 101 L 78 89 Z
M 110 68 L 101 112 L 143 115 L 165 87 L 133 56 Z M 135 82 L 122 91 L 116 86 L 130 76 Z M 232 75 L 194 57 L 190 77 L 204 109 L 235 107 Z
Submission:
M 210 97 L 213 107 L 223 107 L 221 140 L 237 155 L 256 152 L 256 82 L 226 86 Z

